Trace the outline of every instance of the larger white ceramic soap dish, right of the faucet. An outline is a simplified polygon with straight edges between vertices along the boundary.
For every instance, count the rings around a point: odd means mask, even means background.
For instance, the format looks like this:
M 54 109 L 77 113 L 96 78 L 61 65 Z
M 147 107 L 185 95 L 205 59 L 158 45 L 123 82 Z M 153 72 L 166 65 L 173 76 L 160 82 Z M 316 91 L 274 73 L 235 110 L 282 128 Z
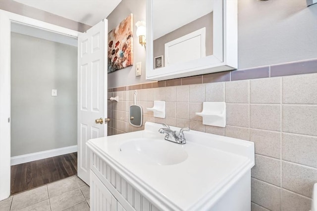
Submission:
M 203 111 L 196 115 L 203 117 L 204 125 L 226 127 L 225 102 L 203 102 Z

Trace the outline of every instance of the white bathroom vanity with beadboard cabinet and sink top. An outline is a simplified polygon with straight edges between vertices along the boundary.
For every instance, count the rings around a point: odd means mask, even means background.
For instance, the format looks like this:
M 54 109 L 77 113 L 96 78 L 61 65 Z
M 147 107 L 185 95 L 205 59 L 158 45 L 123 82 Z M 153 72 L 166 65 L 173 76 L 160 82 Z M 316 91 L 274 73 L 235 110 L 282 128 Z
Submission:
M 190 130 L 177 144 L 160 127 L 86 143 L 92 211 L 251 211 L 253 142 Z

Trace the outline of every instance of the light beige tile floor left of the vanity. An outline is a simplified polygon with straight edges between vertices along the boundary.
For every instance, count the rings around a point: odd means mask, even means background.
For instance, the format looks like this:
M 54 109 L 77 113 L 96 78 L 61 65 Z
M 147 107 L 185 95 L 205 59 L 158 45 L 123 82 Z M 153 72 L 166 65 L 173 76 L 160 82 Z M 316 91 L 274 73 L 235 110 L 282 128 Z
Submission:
M 0 211 L 89 211 L 89 186 L 67 177 L 0 201 Z

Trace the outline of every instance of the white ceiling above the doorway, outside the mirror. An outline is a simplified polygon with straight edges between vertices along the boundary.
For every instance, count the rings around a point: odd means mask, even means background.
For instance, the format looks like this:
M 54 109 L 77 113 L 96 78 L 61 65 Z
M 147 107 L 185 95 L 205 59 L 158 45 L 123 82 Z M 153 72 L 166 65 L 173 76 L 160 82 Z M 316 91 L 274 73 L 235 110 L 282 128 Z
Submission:
M 106 18 L 121 0 L 15 0 L 55 15 L 94 26 Z

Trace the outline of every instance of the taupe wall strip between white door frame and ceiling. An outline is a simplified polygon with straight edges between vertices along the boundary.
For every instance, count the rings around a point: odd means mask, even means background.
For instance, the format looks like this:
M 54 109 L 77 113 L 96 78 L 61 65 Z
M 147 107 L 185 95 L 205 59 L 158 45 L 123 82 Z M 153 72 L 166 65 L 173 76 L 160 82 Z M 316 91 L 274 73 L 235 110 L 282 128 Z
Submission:
M 0 9 L 37 20 L 45 21 L 47 23 L 52 23 L 54 25 L 62 26 L 78 32 L 85 32 L 91 27 L 89 25 L 78 23 L 76 21 L 13 0 L 0 0 Z

